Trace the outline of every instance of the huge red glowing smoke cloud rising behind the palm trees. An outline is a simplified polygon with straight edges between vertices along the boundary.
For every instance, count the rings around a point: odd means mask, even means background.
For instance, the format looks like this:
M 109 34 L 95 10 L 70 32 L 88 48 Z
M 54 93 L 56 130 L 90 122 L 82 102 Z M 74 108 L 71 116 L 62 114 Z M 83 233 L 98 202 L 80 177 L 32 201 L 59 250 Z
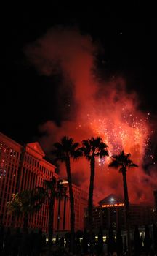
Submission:
M 47 132 L 40 138 L 41 146 L 49 154 L 52 144 L 64 135 L 80 143 L 99 135 L 108 145 L 110 155 L 124 149 L 139 165 L 127 173 L 130 201 L 152 201 L 156 178 L 153 173 L 148 176 L 142 169 L 145 148 L 152 132 L 148 123 L 150 114 L 138 109 L 137 95 L 126 92 L 123 78 L 114 78 L 109 83 L 98 82 L 94 67 L 96 51 L 97 46 L 92 44 L 89 36 L 82 36 L 78 29 L 62 28 L 50 29 L 44 37 L 25 48 L 29 61 L 41 74 L 52 76 L 60 69 L 65 84 L 70 80 L 73 89 L 75 107 L 68 105 L 73 115 L 69 121 L 63 121 L 61 127 L 51 120 L 41 125 L 39 130 Z M 108 169 L 109 161 L 109 158 L 101 162 L 97 159 L 94 180 L 96 203 L 110 193 L 123 195 L 122 176 L 118 170 Z M 73 182 L 77 181 L 88 191 L 89 162 L 86 159 L 72 162 L 72 173 Z M 60 175 L 65 176 L 64 166 L 60 168 Z

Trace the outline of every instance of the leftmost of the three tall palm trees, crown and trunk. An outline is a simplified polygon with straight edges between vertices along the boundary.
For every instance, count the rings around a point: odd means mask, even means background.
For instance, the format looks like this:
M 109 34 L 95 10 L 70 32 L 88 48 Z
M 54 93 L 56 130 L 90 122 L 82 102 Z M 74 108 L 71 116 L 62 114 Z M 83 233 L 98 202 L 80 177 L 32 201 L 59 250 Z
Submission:
M 73 188 L 71 181 L 71 158 L 78 159 L 82 156 L 82 152 L 79 148 L 79 143 L 74 142 L 73 138 L 64 136 L 60 143 L 54 143 L 55 150 L 52 151 L 56 156 L 56 160 L 65 162 L 66 173 L 68 178 L 70 206 L 71 206 L 71 252 L 74 248 L 74 232 L 75 232 L 75 214 L 74 214 L 74 200 L 73 200 Z

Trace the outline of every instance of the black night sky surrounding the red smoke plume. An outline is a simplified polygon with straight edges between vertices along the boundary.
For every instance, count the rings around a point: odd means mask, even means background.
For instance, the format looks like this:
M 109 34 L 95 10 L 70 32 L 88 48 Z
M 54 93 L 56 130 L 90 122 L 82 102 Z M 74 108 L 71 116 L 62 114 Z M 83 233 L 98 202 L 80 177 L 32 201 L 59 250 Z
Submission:
M 60 105 L 71 100 L 68 91 L 59 99 L 60 72 L 39 74 L 25 56 L 24 48 L 62 26 L 79 28 L 101 45 L 95 65 L 102 80 L 121 75 L 128 91 L 140 97 L 140 109 L 157 115 L 154 72 L 155 20 L 151 10 L 138 4 L 46 4 L 2 9 L 1 30 L 1 132 L 19 143 L 38 139 L 39 125 L 53 120 L 60 126 Z M 52 87 L 52 83 L 55 86 Z

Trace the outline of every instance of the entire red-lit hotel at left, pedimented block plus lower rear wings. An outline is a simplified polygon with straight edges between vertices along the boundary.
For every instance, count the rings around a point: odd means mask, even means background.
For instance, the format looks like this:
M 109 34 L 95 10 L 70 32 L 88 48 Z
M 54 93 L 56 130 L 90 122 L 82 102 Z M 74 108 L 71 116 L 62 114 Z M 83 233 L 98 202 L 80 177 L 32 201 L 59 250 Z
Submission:
M 43 187 L 44 180 L 52 176 L 60 178 L 55 173 L 55 166 L 47 162 L 44 151 L 39 143 L 28 143 L 21 146 L 0 132 L 0 224 L 12 226 L 12 216 L 7 213 L 7 202 L 12 200 L 12 194 L 34 187 Z M 67 181 L 65 186 L 68 187 Z M 73 185 L 74 207 L 76 215 L 76 230 L 84 229 L 84 208 L 87 206 L 87 194 Z M 32 229 L 41 228 L 47 233 L 49 206 L 43 203 L 41 210 L 33 214 L 28 222 Z M 14 227 L 23 227 L 23 218 L 16 217 Z M 54 227 L 57 233 L 70 230 L 70 200 L 67 196 L 55 200 Z

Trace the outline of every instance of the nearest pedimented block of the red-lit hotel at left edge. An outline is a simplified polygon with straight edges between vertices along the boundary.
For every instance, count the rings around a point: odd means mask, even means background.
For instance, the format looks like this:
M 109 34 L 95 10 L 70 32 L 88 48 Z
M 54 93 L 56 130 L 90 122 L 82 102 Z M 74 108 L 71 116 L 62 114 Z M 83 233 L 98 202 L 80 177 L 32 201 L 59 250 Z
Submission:
M 58 178 L 55 166 L 44 159 L 44 151 L 39 143 L 21 146 L 0 133 L 0 216 L 1 224 L 12 225 L 12 216 L 7 213 L 7 202 L 12 194 L 34 187 L 43 187 L 44 180 L 52 176 Z M 23 218 L 17 217 L 14 227 L 22 227 Z M 30 228 L 42 228 L 47 232 L 48 204 L 29 219 Z

